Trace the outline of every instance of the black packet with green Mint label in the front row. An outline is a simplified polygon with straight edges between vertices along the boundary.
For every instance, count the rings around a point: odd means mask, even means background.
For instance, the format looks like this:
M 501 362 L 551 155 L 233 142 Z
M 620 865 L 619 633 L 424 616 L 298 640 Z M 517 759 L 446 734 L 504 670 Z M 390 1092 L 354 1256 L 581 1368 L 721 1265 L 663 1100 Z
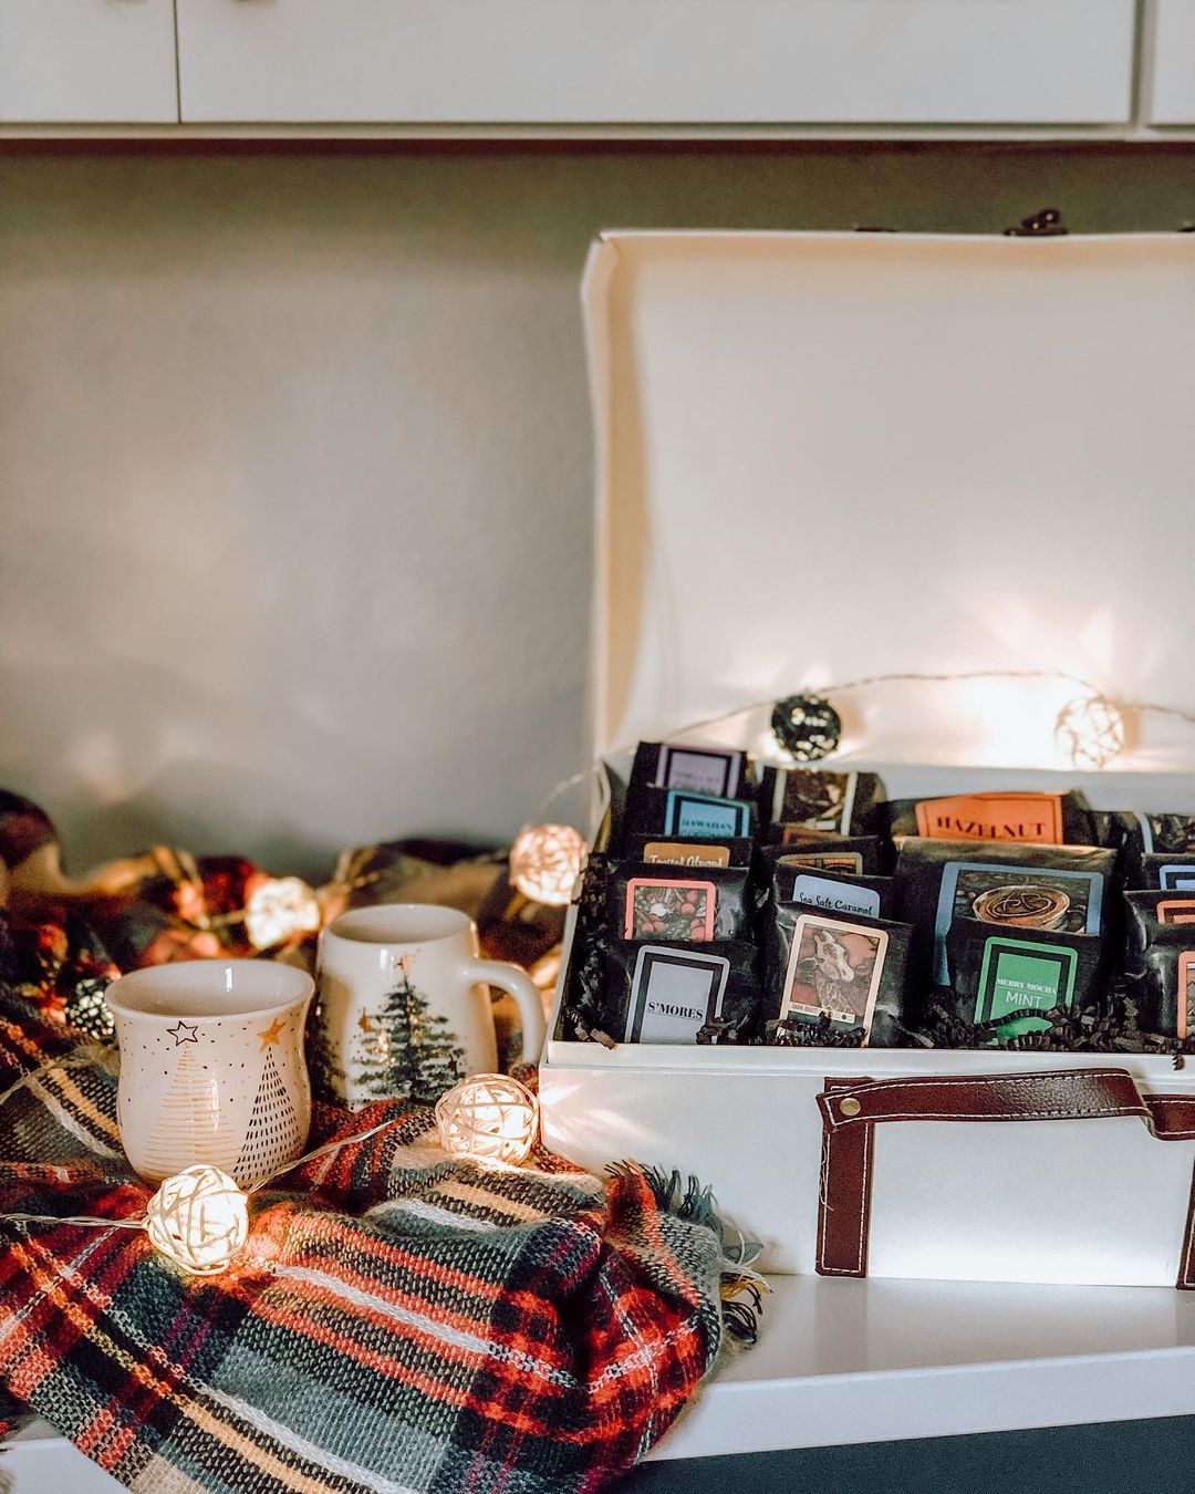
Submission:
M 1093 934 L 996 929 L 960 917 L 947 950 L 950 1002 L 992 1043 L 1049 1032 L 1058 1013 L 1098 1013 L 1102 1004 L 1104 944 Z

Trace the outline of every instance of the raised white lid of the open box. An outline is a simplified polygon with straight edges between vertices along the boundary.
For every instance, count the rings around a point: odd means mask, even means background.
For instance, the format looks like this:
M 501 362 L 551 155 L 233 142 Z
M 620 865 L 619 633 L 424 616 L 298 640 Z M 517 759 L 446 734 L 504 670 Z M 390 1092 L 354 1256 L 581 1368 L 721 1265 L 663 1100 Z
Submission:
M 608 233 L 584 314 L 595 754 L 890 672 L 1195 704 L 1195 236 Z M 847 692 L 828 763 L 1040 777 L 1076 693 Z M 1132 716 L 1104 778 L 1195 768 Z

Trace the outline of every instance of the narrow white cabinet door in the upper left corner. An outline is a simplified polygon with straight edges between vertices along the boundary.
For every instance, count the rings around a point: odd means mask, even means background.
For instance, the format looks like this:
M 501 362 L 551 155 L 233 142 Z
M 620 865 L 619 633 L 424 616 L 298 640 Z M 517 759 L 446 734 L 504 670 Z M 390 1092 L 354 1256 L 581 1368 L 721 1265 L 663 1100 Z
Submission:
M 0 0 L 0 124 L 176 121 L 172 0 Z

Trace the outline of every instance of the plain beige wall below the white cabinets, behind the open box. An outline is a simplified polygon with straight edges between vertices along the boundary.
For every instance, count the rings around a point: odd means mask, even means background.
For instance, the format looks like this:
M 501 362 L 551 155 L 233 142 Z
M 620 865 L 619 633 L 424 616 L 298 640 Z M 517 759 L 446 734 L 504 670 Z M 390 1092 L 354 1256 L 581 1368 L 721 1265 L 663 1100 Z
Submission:
M 0 784 L 79 868 L 167 840 L 320 871 L 348 841 L 512 831 L 583 760 L 599 229 L 989 232 L 1046 203 L 1171 229 L 1192 166 L 0 155 Z

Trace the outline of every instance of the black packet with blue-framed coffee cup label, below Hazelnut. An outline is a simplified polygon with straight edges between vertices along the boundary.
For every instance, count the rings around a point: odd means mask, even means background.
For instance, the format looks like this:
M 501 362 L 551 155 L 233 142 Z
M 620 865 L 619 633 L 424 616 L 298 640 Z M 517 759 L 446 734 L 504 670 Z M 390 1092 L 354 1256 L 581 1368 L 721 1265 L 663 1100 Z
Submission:
M 956 919 L 1005 932 L 1102 937 L 1116 852 L 1098 846 L 940 841 L 905 837 L 896 856 L 896 917 L 914 926 L 913 976 L 950 986 Z

